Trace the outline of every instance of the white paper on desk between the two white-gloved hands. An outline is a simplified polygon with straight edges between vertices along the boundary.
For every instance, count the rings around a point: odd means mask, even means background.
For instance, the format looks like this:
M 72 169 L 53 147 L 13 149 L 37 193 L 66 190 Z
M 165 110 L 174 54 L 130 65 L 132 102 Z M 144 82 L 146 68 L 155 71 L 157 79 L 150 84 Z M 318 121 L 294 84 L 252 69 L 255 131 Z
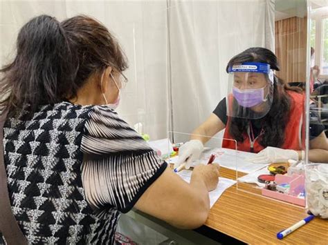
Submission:
M 210 155 L 215 155 L 216 163 L 220 166 L 229 168 L 232 170 L 237 170 L 243 173 L 252 173 L 255 170 L 259 170 L 268 164 L 253 164 L 251 162 L 245 161 L 246 158 L 254 157 L 255 153 L 246 153 L 244 151 L 232 150 L 228 148 L 207 148 L 203 150 L 200 160 L 202 164 L 207 164 Z M 197 165 L 195 161 L 192 166 Z

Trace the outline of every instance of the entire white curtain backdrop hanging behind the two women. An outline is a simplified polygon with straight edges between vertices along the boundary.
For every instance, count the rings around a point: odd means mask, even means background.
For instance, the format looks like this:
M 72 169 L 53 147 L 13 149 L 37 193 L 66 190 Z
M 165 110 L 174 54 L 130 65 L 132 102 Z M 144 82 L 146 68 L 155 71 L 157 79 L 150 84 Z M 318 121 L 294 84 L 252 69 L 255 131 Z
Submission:
M 87 14 L 116 35 L 129 58 L 120 115 L 143 123 L 151 139 L 167 130 L 190 133 L 226 95 L 228 60 L 270 45 L 274 14 L 266 7 L 273 1 L 1 1 L 0 66 L 14 57 L 17 33 L 32 17 Z

